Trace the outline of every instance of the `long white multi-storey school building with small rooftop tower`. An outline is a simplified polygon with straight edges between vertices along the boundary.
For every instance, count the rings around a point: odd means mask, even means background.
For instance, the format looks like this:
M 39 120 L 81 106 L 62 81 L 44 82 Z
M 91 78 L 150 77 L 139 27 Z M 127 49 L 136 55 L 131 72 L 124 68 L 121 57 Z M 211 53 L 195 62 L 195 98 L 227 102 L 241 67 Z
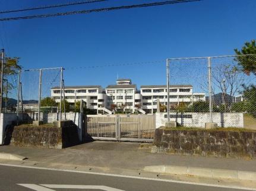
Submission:
M 205 93 L 193 92 L 191 85 L 170 85 L 170 105 L 180 102 L 192 104 L 206 101 Z M 59 102 L 60 89 L 51 89 L 51 96 Z M 96 109 L 97 114 L 113 112 L 138 112 L 153 114 L 157 109 L 157 98 L 162 105 L 167 105 L 166 85 L 143 85 L 140 90 L 131 79 L 118 79 L 116 85 L 102 86 L 66 86 L 65 99 L 74 105 L 83 99 L 89 109 Z

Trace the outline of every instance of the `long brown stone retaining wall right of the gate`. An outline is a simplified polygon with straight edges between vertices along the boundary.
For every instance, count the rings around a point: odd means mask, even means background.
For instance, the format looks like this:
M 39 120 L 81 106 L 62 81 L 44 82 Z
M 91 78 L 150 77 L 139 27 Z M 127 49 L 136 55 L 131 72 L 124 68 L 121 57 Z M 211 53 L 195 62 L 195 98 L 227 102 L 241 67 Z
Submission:
M 156 129 L 152 152 L 192 156 L 256 157 L 256 131 Z

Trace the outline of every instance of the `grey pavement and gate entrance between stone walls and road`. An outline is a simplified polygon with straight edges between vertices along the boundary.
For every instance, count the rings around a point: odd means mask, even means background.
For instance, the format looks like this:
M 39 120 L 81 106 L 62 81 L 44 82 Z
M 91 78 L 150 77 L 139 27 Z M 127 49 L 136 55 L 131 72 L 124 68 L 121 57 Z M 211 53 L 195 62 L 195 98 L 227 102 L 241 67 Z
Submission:
M 28 160 L 44 163 L 130 170 L 143 170 L 145 166 L 171 165 L 256 172 L 256 160 L 150 153 L 150 145 L 94 141 L 62 150 L 1 146 L 0 153 L 18 154 Z

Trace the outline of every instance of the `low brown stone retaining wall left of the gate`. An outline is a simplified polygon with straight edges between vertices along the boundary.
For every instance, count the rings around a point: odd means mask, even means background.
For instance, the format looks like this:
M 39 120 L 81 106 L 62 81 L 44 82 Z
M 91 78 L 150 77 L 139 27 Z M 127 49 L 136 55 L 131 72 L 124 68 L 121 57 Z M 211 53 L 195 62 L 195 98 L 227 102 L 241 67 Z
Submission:
M 7 134 L 11 137 L 10 145 L 15 146 L 66 148 L 80 143 L 77 126 L 72 121 L 65 122 L 62 128 L 53 125 L 19 125 Z

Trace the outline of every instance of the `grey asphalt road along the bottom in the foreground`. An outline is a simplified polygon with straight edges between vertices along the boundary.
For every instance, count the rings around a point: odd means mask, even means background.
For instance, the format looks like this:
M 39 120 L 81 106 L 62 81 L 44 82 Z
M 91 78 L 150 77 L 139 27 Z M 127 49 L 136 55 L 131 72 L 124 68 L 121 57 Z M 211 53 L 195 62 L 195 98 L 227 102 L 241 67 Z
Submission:
M 79 190 L 239 190 L 223 187 L 203 186 L 160 180 L 109 176 L 103 174 L 87 174 L 70 171 L 31 169 L 24 167 L 0 165 L 0 190 L 78 190 L 70 185 L 80 186 Z M 23 184 L 23 185 L 20 185 Z M 25 185 L 26 184 L 26 185 Z M 44 185 L 40 185 L 44 184 Z M 54 185 L 45 185 L 54 184 Z M 63 185 L 65 184 L 65 185 Z M 69 185 L 69 186 L 68 186 Z M 89 186 L 90 185 L 90 186 Z M 26 187 L 27 186 L 27 187 Z M 105 187 L 96 187 L 105 186 Z M 62 188 L 61 188 L 62 187 Z M 84 189 L 83 189 L 84 187 Z M 110 189 L 112 187 L 113 189 Z M 119 190 L 118 190 L 119 189 Z

